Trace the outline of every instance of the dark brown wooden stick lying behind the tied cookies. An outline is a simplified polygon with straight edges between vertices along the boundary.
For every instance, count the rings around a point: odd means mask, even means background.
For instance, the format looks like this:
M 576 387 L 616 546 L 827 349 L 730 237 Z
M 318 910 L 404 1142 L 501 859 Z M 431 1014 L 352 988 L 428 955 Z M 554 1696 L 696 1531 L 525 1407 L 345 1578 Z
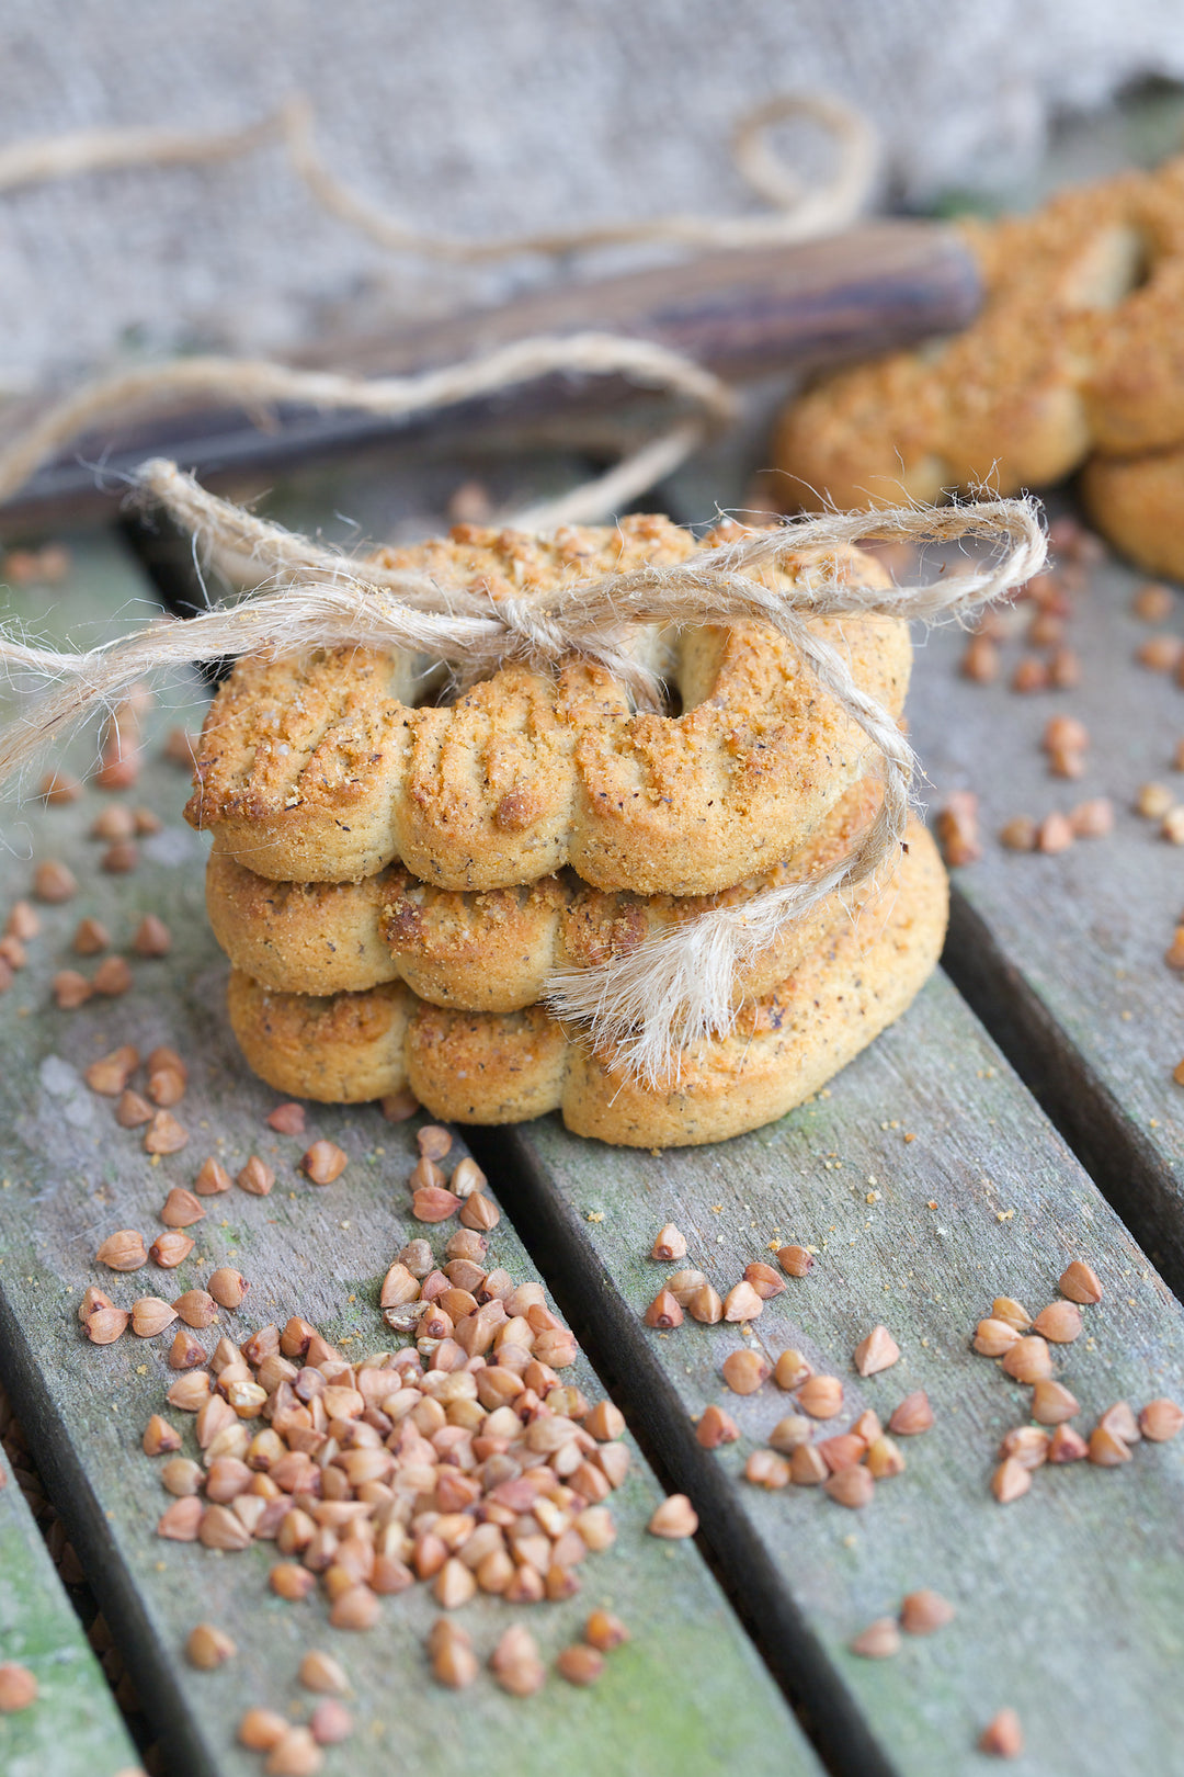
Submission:
M 295 361 L 343 375 L 415 375 L 462 363 L 540 334 L 582 331 L 650 339 L 722 377 L 873 354 L 966 325 L 980 300 L 978 267 L 953 231 L 932 222 L 864 222 L 793 247 L 703 252 L 683 263 L 620 277 L 577 281 L 495 307 L 467 309 L 414 329 L 364 339 L 330 339 Z M 133 471 L 146 457 L 176 457 L 208 476 L 227 466 L 268 471 L 293 457 L 355 450 L 375 439 L 446 426 L 501 426 L 579 410 L 591 398 L 620 405 L 637 398 L 627 379 L 540 377 L 522 389 L 479 396 L 412 421 L 346 410 L 318 412 L 277 403 L 261 425 L 252 412 L 179 400 L 163 419 L 115 418 L 46 464 L 18 496 L 18 510 L 48 515 L 53 501 L 85 501 L 92 464 L 105 476 Z

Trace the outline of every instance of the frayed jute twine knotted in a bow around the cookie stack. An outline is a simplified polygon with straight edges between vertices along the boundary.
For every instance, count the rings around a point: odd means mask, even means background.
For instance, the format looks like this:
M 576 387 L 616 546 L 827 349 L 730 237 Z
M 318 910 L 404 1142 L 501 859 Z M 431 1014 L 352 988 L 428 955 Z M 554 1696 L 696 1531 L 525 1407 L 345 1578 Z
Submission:
M 243 654 L 289 654 L 312 647 L 405 649 L 447 661 L 465 682 L 524 661 L 554 672 L 580 656 L 653 695 L 630 650 L 630 627 L 760 622 L 785 636 L 802 666 L 859 729 L 877 755 L 884 798 L 856 848 L 829 869 L 762 890 L 738 906 L 710 908 L 673 931 L 643 940 L 604 965 L 556 972 L 547 1002 L 582 1024 L 591 1041 L 627 1077 L 659 1088 L 676 1079 L 680 1052 L 724 1036 L 737 1013 L 737 972 L 793 920 L 833 894 L 886 878 L 909 816 L 914 753 L 896 721 L 854 681 L 841 652 L 811 627 L 827 617 L 896 617 L 935 622 L 967 618 L 976 608 L 1037 574 L 1047 554 L 1033 499 L 983 499 L 943 508 L 804 515 L 680 563 L 573 578 L 529 597 L 493 597 L 410 572 L 353 560 L 268 524 L 208 494 L 174 464 L 154 460 L 138 478 L 140 498 L 162 506 L 208 556 L 254 560 L 264 590 L 188 620 L 151 622 L 122 640 L 85 652 L 37 649 L 0 634 L 0 666 L 51 681 L 23 720 L 0 734 L 0 784 L 43 745 L 60 741 L 89 711 L 117 704 L 147 673 Z M 840 551 L 857 542 L 955 544 L 991 553 L 918 586 L 856 586 L 838 562 L 797 563 L 792 585 L 769 585 L 781 562 L 801 551 Z

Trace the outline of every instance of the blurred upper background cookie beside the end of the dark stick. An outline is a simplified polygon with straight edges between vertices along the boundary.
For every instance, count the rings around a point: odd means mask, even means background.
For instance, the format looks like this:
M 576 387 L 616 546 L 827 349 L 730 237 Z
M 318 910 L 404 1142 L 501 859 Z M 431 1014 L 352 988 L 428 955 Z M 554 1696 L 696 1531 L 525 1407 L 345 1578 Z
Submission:
M 790 405 L 776 464 L 802 506 L 1012 494 L 1184 441 L 1184 160 L 962 224 L 980 316 L 827 377 Z

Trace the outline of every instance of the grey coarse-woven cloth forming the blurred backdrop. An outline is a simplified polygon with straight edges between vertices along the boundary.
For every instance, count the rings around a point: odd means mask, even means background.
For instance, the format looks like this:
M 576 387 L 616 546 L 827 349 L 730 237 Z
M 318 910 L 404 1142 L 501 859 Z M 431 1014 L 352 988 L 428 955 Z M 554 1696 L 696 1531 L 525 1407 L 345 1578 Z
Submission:
M 302 91 L 344 179 L 469 235 L 753 208 L 730 126 L 802 87 L 872 116 L 886 201 L 1014 185 L 1054 116 L 1147 75 L 1184 76 L 1180 0 L 0 0 L 0 144 L 240 126 Z M 385 254 L 320 213 L 277 146 L 0 210 L 9 391 L 179 348 L 282 352 L 572 275 Z

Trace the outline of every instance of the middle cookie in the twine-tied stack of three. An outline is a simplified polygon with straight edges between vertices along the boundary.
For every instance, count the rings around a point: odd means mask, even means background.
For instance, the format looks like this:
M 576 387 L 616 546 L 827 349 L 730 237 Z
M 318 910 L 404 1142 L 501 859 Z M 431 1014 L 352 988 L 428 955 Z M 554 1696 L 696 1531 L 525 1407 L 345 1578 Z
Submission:
M 360 883 L 275 883 L 215 851 L 206 908 L 225 954 L 259 986 L 327 995 L 407 981 L 433 1006 L 518 1011 L 543 997 L 556 968 L 604 963 L 710 906 L 738 904 L 836 864 L 875 817 L 880 794 L 872 778 L 856 784 L 797 858 L 717 896 L 607 894 L 572 871 L 465 894 L 421 883 L 399 864 Z M 847 904 L 857 908 L 868 894 L 861 885 Z M 841 904 L 834 896 L 802 926 L 786 926 L 740 977 L 742 993 L 783 981 Z

